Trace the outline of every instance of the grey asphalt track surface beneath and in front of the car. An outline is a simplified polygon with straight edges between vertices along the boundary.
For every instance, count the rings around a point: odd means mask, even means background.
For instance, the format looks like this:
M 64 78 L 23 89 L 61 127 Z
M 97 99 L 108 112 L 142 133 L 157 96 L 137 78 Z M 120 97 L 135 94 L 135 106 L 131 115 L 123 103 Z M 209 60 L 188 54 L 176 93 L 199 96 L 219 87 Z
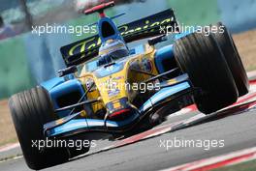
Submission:
M 183 119 L 191 118 L 198 112 L 189 112 L 169 118 L 162 124 L 166 126 Z M 161 144 L 164 141 L 179 140 L 223 140 L 224 147 L 170 147 L 168 150 Z M 208 121 L 197 126 L 167 132 L 130 145 L 98 152 L 112 143 L 101 141 L 90 154 L 71 160 L 45 170 L 78 171 L 78 170 L 161 170 L 194 160 L 224 155 L 234 151 L 256 146 L 256 108 L 239 112 L 236 115 Z M 29 170 L 23 157 L 0 162 L 1 171 Z

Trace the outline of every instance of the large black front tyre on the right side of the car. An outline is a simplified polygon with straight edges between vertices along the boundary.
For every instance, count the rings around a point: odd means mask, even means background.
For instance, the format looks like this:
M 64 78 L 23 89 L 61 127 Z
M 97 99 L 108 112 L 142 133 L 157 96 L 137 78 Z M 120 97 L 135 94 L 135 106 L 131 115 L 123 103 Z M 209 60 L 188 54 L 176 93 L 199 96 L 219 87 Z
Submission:
M 210 34 L 192 33 L 176 41 L 174 53 L 179 68 L 202 93 L 195 103 L 203 113 L 212 113 L 238 100 L 238 90 L 217 42 Z

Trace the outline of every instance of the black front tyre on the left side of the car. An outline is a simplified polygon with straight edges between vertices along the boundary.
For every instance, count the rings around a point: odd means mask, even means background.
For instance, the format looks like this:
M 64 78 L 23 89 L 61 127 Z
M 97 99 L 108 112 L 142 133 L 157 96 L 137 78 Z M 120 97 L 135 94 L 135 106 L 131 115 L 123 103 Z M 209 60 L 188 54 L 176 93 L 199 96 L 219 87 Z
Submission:
M 9 106 L 29 168 L 39 170 L 68 160 L 66 149 L 47 148 L 39 151 L 37 147 L 32 147 L 32 141 L 45 140 L 44 124 L 56 119 L 48 92 L 43 87 L 14 95 L 9 100 Z

